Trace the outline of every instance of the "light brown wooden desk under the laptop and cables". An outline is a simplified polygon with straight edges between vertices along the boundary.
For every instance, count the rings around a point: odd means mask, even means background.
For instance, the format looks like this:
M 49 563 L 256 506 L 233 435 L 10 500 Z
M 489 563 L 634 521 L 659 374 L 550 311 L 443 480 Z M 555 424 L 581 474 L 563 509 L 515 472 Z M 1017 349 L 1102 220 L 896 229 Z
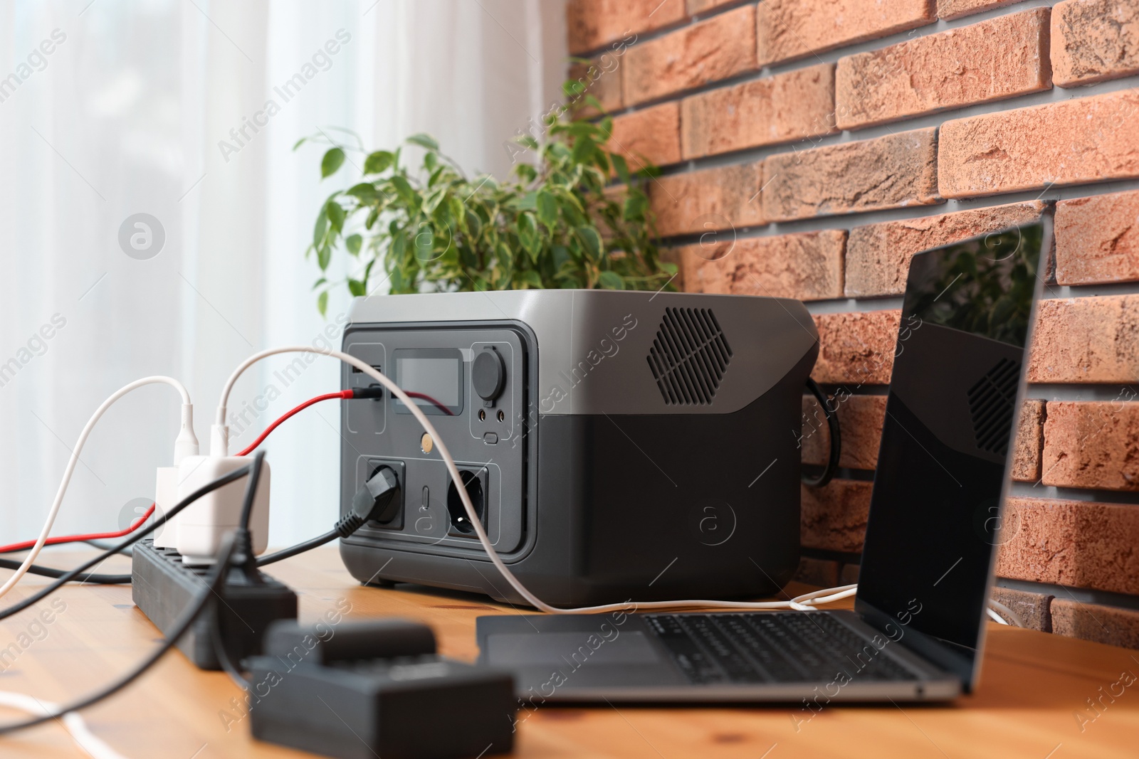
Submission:
M 65 558 L 66 556 L 66 558 Z M 51 552 L 68 566 L 75 554 Z M 100 571 L 126 571 L 116 558 Z M 350 617 L 391 614 L 429 624 L 442 653 L 476 655 L 475 617 L 514 613 L 482 597 L 442 592 L 360 587 L 335 550 L 319 550 L 284 561 L 272 574 L 300 594 L 302 620 L 314 620 L 338 601 L 352 604 Z M 26 593 L 36 580 L 17 586 L 5 602 Z M 0 622 L 0 649 L 27 634 L 31 641 L 0 674 L 0 690 L 71 701 L 124 671 L 158 640 L 153 625 L 131 603 L 129 587 L 67 587 L 58 593 L 66 608 L 46 625 L 30 629 L 31 610 Z M 50 599 L 41 608 L 50 608 Z M 534 712 L 518 729 L 517 757 L 642 757 L 683 759 L 740 757 L 1071 757 L 1139 756 L 1139 680 L 1103 696 L 1100 716 L 1088 710 L 1123 671 L 1139 675 L 1139 652 L 1032 630 L 992 626 L 980 692 L 948 707 L 827 708 L 795 726 L 801 712 L 788 707 L 757 708 L 554 708 Z M 39 636 L 42 640 L 35 640 Z M 1103 691 L 1100 691 L 1103 688 Z M 1116 686 L 1115 692 L 1118 693 Z M 167 654 L 123 693 L 84 712 L 91 728 L 129 757 L 221 759 L 304 757 L 249 737 L 239 721 L 227 732 L 223 715 L 240 694 L 221 673 L 203 673 L 180 653 Z M 1075 715 L 1089 717 L 1081 732 Z M 2 717 L 15 717 L 3 710 Z M 445 729 L 446 717 L 440 715 Z M 63 728 L 40 726 L 0 739 L 0 757 L 74 759 L 82 754 Z

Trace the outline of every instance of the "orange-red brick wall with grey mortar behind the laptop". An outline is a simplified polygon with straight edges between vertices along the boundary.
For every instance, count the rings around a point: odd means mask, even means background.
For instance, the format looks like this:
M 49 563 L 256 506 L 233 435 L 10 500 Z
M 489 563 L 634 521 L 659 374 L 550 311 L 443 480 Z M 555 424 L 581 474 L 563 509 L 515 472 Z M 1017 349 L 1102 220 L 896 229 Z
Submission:
M 614 140 L 664 170 L 685 289 L 806 302 L 814 378 L 850 394 L 842 476 L 803 492 L 803 579 L 857 576 L 910 256 L 1055 215 L 997 593 L 1139 646 L 1139 0 L 570 0 L 568 20 Z

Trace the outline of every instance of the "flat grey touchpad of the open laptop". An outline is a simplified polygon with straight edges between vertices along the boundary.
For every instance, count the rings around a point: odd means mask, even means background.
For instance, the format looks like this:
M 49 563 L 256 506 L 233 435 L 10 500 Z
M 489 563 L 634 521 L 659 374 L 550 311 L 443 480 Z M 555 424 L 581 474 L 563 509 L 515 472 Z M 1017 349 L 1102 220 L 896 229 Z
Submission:
M 498 633 L 486 636 L 486 661 L 507 667 L 540 665 L 653 665 L 661 661 L 639 630 L 609 641 L 584 630 L 572 633 Z

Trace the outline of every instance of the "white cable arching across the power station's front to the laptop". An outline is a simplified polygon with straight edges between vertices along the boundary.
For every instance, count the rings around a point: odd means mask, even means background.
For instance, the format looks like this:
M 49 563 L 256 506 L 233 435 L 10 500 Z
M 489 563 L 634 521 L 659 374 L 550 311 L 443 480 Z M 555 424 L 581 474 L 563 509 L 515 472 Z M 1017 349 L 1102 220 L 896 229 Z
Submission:
M 427 419 L 426 414 L 420 411 L 419 405 L 416 404 L 408 395 L 399 388 L 392 380 L 376 371 L 372 366 L 364 363 L 355 356 L 350 356 L 341 350 L 330 349 L 318 349 L 305 345 L 294 345 L 285 346 L 280 348 L 270 348 L 268 350 L 262 350 L 255 353 L 248 358 L 246 358 L 241 364 L 233 370 L 230 374 L 229 380 L 226 382 L 226 387 L 222 388 L 221 399 L 218 404 L 218 419 L 214 424 L 214 431 L 211 435 L 211 455 L 228 455 L 228 438 L 229 430 L 226 426 L 226 405 L 229 403 L 229 394 L 233 388 L 237 378 L 241 376 L 246 369 L 252 366 L 257 361 L 265 358 L 268 356 L 273 356 L 279 353 L 316 353 L 318 355 L 330 356 L 333 358 L 339 358 L 341 361 L 355 366 L 364 374 L 376 380 L 392 394 L 395 395 L 400 401 L 404 403 L 409 411 L 418 420 L 419 424 L 424 430 L 431 435 L 432 440 L 435 443 L 435 448 L 439 451 L 440 456 L 443 459 L 443 463 L 446 465 L 446 471 L 451 475 L 451 480 L 454 482 L 461 482 L 462 477 L 459 475 L 459 468 L 454 464 L 454 459 L 451 457 L 451 452 L 448 451 L 446 444 L 440 437 L 439 432 L 435 431 L 435 427 Z M 214 447 L 215 446 L 215 447 Z M 507 566 L 499 558 L 498 552 L 494 551 L 494 546 L 491 545 L 490 538 L 486 536 L 486 530 L 483 529 L 482 520 L 478 519 L 478 514 L 475 512 L 474 505 L 470 503 L 470 495 L 467 493 L 467 488 L 457 487 L 456 492 L 459 494 L 459 498 L 462 501 L 462 508 L 467 511 L 467 518 L 470 520 L 472 527 L 475 528 L 475 534 L 478 536 L 478 542 L 482 543 L 483 548 L 486 550 L 486 555 L 490 558 L 491 563 L 494 564 L 495 569 L 502 575 L 507 583 L 510 584 L 518 595 L 526 600 L 526 603 L 534 607 L 540 611 L 546 611 L 554 614 L 567 614 L 567 613 L 600 613 L 608 611 L 629 611 L 630 607 L 636 607 L 637 609 L 678 609 L 678 608 L 689 608 L 689 607 L 711 607 L 714 609 L 795 609 L 797 611 L 808 611 L 812 605 L 819 603 L 829 603 L 831 601 L 838 601 L 839 599 L 846 599 L 854 595 L 858 586 L 857 585 L 843 585 L 841 587 L 825 588 L 822 591 L 814 591 L 812 593 L 805 593 L 801 596 L 792 599 L 790 601 L 646 601 L 646 602 L 628 602 L 628 603 L 607 603 L 598 607 L 582 607 L 579 609 L 559 609 L 557 607 L 551 607 L 546 603 L 533 593 L 526 589 L 526 587 L 514 576 Z

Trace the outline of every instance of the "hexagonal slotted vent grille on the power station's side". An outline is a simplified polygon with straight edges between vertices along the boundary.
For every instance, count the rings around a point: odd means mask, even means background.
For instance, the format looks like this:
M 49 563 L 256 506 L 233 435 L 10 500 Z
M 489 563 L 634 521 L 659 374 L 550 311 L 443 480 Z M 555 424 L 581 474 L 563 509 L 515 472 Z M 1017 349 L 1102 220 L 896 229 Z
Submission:
M 712 403 L 731 348 L 711 308 L 665 308 L 648 365 L 667 405 Z

